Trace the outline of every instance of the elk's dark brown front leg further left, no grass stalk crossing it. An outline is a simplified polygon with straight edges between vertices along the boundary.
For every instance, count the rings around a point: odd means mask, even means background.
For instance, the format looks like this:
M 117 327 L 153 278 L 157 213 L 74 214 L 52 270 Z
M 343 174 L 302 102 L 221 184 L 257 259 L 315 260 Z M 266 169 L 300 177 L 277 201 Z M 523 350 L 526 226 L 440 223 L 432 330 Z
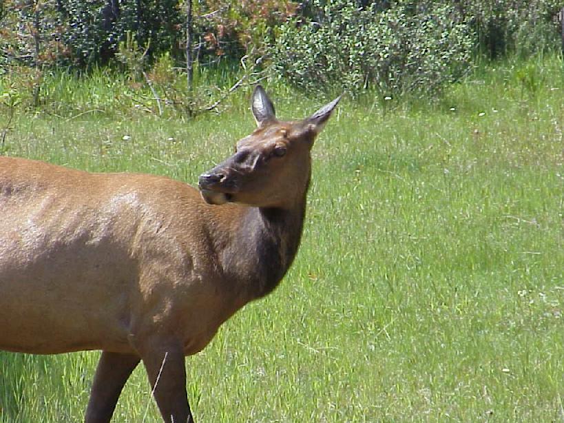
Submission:
M 108 423 L 112 419 L 123 385 L 139 361 L 137 355 L 102 352 L 90 391 L 86 423 Z

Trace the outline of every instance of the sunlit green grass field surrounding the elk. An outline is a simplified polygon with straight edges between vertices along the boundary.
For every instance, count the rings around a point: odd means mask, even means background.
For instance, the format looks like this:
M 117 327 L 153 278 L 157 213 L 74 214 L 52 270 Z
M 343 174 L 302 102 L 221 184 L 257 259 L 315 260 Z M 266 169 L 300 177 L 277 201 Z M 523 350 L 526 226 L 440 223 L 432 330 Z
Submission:
M 248 92 L 182 121 L 115 112 L 95 89 L 65 116 L 17 113 L 4 154 L 194 185 L 253 129 Z M 326 100 L 272 96 L 282 118 Z M 196 420 L 563 422 L 563 99 L 550 57 L 430 105 L 343 101 L 313 149 L 291 271 L 186 360 Z M 0 352 L 0 422 L 81 420 L 97 358 Z M 158 418 L 140 367 L 114 421 Z

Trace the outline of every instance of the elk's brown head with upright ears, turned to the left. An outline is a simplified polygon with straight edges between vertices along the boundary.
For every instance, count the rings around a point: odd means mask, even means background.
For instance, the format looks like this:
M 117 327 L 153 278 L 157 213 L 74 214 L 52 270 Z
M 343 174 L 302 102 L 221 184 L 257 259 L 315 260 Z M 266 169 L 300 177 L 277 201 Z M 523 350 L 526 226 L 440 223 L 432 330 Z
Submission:
M 341 97 L 302 121 L 283 122 L 257 85 L 251 110 L 258 128 L 236 145 L 226 161 L 200 176 L 202 198 L 209 204 L 293 207 L 303 200 L 311 174 L 310 150 Z

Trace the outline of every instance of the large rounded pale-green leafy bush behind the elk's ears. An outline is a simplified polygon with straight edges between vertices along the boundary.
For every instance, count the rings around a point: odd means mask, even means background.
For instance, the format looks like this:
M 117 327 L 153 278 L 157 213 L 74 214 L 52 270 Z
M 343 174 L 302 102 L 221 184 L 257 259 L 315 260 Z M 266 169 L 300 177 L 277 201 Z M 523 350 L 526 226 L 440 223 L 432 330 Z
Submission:
M 474 34 L 451 6 L 379 10 L 346 0 L 319 0 L 319 19 L 282 25 L 272 59 L 275 74 L 307 90 L 340 87 L 355 94 L 436 94 L 469 68 Z

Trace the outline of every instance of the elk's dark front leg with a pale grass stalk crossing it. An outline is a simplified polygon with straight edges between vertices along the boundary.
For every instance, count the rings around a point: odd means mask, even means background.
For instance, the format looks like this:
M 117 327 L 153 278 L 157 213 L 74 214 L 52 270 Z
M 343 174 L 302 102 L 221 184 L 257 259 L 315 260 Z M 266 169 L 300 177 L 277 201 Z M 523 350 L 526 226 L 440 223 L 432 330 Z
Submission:
M 166 423 L 194 423 L 186 393 L 184 351 L 178 346 L 142 354 L 154 397 Z

